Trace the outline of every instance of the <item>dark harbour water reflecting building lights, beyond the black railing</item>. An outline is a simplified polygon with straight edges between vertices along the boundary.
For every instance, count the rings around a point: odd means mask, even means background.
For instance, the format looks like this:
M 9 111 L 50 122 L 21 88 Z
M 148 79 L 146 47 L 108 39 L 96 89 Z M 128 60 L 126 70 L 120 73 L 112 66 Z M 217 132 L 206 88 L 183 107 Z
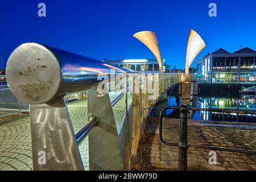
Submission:
M 179 97 L 168 97 L 168 105 L 180 105 Z M 231 109 L 243 111 L 255 111 L 256 114 L 256 97 L 241 96 L 238 93 L 200 93 L 197 98 L 191 102 L 191 106 L 203 109 Z M 179 111 L 168 110 L 168 117 L 179 118 Z M 209 111 L 193 111 L 190 113 L 191 119 L 204 121 L 229 121 L 229 122 L 254 122 L 256 115 L 236 114 L 236 113 L 218 113 Z

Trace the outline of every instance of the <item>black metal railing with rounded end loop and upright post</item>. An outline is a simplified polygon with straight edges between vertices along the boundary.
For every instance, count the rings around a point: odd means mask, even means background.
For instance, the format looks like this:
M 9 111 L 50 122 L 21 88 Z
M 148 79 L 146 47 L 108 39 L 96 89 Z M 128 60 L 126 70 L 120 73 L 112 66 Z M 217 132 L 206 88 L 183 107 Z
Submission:
M 179 109 L 180 110 L 180 131 L 179 131 L 179 142 L 172 143 L 166 142 L 163 139 L 163 116 L 164 112 L 167 109 Z M 169 146 L 179 147 L 179 162 L 178 170 L 185 171 L 187 170 L 187 150 L 189 147 L 193 148 L 204 148 L 209 150 L 218 150 L 218 151 L 227 151 L 227 152 L 240 152 L 244 154 L 253 154 L 256 155 L 254 150 L 243 150 L 240 148 L 225 148 L 225 147 L 214 147 L 214 146 L 203 146 L 199 144 L 190 144 L 188 143 L 188 111 L 214 111 L 218 113 L 237 113 L 237 114 L 255 114 L 254 111 L 238 111 L 238 110 L 226 110 L 226 109 L 201 109 L 196 107 L 189 107 L 188 105 L 181 105 L 180 107 L 167 106 L 160 112 L 160 121 L 159 121 L 159 138 L 160 140 Z

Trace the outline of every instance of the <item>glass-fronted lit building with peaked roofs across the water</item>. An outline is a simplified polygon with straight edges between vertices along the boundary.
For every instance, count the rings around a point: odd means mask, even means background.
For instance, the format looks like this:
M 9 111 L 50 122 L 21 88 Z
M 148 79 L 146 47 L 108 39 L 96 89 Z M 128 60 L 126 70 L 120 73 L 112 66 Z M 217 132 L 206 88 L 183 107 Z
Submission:
M 256 84 L 256 51 L 246 47 L 229 53 L 220 48 L 197 61 L 200 82 Z

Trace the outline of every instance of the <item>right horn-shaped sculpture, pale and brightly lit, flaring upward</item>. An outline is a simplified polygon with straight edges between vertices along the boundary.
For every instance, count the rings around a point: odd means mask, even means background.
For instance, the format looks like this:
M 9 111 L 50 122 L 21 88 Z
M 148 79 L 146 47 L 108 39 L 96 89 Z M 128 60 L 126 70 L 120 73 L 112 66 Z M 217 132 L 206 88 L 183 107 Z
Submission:
M 185 78 L 189 81 L 188 70 L 196 56 L 205 48 L 204 40 L 197 32 L 191 29 L 187 44 L 186 63 L 185 63 Z

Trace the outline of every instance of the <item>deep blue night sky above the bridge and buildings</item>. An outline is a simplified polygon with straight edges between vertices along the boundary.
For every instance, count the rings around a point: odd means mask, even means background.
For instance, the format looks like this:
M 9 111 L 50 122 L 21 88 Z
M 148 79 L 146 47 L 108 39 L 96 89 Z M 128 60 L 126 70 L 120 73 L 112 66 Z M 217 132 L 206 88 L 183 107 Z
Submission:
M 47 16 L 38 16 L 44 2 Z M 210 2 L 217 4 L 217 17 L 208 16 Z M 208 0 L 1 0 L 0 55 L 25 42 L 79 53 L 94 59 L 153 59 L 154 55 L 133 34 L 156 33 L 167 64 L 183 68 L 190 28 L 197 31 L 207 52 L 222 47 L 234 52 L 242 47 L 256 49 L 256 1 Z

